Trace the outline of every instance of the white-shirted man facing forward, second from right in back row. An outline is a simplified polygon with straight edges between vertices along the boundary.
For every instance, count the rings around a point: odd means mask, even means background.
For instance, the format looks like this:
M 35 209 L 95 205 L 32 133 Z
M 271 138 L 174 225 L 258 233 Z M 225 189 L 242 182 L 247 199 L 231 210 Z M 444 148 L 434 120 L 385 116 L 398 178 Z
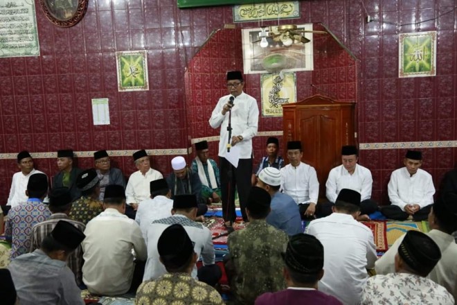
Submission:
M 331 204 L 337 200 L 342 189 L 352 189 L 361 195 L 360 216 L 358 220 L 370 220 L 368 215 L 377 211 L 377 203 L 371 199 L 373 177 L 368 168 L 357 164 L 359 150 L 355 146 L 341 148 L 340 166 L 332 168 L 325 183 L 325 195 Z M 327 214 L 330 214 L 328 211 Z

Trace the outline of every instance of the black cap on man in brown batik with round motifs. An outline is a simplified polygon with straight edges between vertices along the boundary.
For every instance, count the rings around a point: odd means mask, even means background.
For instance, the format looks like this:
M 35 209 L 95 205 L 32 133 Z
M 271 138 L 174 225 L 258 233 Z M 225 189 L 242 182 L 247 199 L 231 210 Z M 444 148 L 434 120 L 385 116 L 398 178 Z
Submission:
M 159 237 L 157 251 L 165 267 L 179 269 L 188 263 L 194 253 L 194 246 L 186 229 L 174 224 L 167 227 Z

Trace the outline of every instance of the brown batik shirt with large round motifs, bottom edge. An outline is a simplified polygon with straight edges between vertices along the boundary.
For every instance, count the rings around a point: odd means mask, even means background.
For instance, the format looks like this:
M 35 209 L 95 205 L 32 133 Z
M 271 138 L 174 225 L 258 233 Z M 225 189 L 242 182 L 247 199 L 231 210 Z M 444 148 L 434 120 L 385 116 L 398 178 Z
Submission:
M 136 291 L 136 305 L 145 304 L 224 304 L 217 291 L 186 273 L 163 275 L 156 281 L 143 281 Z

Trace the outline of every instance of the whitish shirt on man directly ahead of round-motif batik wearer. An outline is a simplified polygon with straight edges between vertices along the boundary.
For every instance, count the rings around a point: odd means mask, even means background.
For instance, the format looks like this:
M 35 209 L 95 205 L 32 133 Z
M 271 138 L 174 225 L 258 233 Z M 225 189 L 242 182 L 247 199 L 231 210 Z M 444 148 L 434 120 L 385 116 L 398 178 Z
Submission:
M 201 225 L 201 223 L 196 223 L 186 216 L 174 214 L 168 218 L 154 221 L 154 223 L 147 228 L 147 261 L 143 281 L 158 279 L 167 273 L 165 266 L 159 261 L 157 243 L 159 242 L 159 238 L 163 231 L 175 223 L 179 223 L 186 229 L 190 240 L 194 243 L 195 253 L 197 253 L 197 256 L 200 256 L 201 254 L 203 264 L 213 265 L 215 263 L 214 245 L 210 230 L 204 225 Z M 170 241 L 170 243 L 172 242 L 173 241 Z M 197 279 L 197 265 L 194 265 L 192 277 Z

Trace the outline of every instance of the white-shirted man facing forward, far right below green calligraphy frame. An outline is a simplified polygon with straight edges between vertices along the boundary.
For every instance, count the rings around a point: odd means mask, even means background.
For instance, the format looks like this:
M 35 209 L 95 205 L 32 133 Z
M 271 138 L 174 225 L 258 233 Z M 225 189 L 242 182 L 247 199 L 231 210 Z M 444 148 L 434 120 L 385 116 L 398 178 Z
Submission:
M 431 175 L 420 169 L 422 153 L 418 150 L 408 150 L 403 164 L 404 167 L 391 174 L 387 186 L 391 205 L 382 207 L 382 214 L 394 220 L 427 220 L 433 204 L 435 187 Z

